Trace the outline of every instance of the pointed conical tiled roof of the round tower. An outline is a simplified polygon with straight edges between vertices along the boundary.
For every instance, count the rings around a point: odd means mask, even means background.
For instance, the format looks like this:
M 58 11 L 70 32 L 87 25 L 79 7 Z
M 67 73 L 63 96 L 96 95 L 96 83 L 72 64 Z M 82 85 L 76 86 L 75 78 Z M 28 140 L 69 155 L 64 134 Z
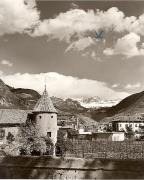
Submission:
M 57 113 L 49 95 L 45 88 L 41 98 L 36 103 L 33 112 L 50 112 Z

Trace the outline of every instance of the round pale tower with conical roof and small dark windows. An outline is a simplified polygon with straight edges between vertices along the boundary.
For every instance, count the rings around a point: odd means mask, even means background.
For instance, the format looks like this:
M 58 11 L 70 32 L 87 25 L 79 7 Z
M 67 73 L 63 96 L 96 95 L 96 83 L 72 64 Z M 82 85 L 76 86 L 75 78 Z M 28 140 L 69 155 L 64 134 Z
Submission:
M 36 127 L 39 129 L 40 134 L 50 137 L 55 145 L 58 131 L 57 111 L 48 95 L 46 86 L 41 98 L 34 107 L 33 114 Z

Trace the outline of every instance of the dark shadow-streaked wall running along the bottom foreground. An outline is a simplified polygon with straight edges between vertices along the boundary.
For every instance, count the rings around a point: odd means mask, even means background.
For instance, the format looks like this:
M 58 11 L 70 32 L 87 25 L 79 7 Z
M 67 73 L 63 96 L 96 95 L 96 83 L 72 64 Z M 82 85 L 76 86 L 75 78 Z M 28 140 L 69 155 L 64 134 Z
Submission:
M 143 179 L 144 161 L 1 157 L 1 179 Z

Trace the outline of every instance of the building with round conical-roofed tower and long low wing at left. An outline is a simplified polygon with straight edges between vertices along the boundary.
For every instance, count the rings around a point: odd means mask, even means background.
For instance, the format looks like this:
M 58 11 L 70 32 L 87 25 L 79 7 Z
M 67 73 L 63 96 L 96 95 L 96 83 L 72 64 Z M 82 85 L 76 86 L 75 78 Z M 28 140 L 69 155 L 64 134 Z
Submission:
M 22 124 L 33 122 L 41 136 L 51 138 L 53 144 L 57 142 L 57 111 L 45 88 L 41 98 L 32 111 L 18 109 L 0 110 L 0 144 L 8 137 L 16 138 Z M 53 151 L 55 153 L 55 150 Z

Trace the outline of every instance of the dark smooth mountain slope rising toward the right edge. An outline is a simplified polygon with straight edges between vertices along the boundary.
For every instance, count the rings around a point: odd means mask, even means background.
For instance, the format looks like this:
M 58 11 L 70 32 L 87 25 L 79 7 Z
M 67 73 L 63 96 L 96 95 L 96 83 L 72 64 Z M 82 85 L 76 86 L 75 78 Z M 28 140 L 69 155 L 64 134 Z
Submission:
M 91 118 L 96 121 L 104 121 L 106 117 L 109 117 L 108 119 L 112 120 L 118 116 L 121 118 L 135 117 L 142 113 L 144 113 L 144 91 L 126 97 L 113 107 L 91 110 Z

